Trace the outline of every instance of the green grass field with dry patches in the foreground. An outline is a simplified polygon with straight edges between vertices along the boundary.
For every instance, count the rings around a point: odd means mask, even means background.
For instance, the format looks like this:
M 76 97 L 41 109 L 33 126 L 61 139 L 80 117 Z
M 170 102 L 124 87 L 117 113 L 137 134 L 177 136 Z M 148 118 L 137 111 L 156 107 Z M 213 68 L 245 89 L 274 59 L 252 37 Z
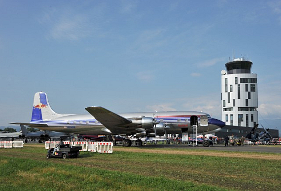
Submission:
M 46 159 L 43 144 L 0 149 L 0 191 L 281 190 L 281 155 L 114 147 Z

